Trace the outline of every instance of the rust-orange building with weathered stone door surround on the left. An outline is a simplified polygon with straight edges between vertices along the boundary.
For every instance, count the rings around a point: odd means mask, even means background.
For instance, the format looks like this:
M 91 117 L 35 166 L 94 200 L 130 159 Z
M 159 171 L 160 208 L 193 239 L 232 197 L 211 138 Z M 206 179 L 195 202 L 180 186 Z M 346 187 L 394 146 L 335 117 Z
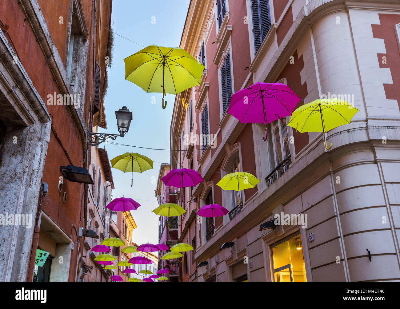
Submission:
M 0 224 L 1 281 L 82 279 L 89 188 L 60 169 L 90 167 L 110 16 L 111 0 L 0 4 L 0 194 L 6 215 L 19 220 Z M 50 254 L 42 267 L 37 249 Z

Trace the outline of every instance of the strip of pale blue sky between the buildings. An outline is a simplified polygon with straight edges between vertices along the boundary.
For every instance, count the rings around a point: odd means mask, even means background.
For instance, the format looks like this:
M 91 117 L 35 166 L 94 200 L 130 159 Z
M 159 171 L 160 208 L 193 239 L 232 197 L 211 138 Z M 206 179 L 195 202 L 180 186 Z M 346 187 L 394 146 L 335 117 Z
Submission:
M 126 106 L 133 113 L 128 134 L 124 138 L 117 138 L 115 142 L 148 148 L 170 148 L 170 125 L 175 96 L 167 94 L 168 104 L 163 110 L 162 94 L 146 93 L 125 80 L 124 58 L 151 44 L 178 47 L 189 2 L 189 0 L 113 1 L 114 49 L 112 68 L 108 68 L 107 95 L 104 99 L 108 130 L 100 129 L 100 132 L 106 131 L 111 134 L 118 132 L 115 110 Z M 152 104 L 153 96 L 156 97 L 156 104 Z M 132 240 L 138 244 L 158 243 L 158 216 L 152 212 L 158 206 L 154 196 L 156 189 L 154 177 L 155 179 L 158 177 L 161 162 L 170 163 L 170 153 L 105 143 L 100 147 L 104 145 L 109 159 L 133 151 L 146 155 L 154 161 L 154 169 L 133 174 L 133 188 L 130 186 L 131 174 L 113 168 L 115 189 L 112 195 L 114 198 L 122 195 L 131 197 L 141 204 L 137 210 L 131 212 L 138 225 L 133 232 Z

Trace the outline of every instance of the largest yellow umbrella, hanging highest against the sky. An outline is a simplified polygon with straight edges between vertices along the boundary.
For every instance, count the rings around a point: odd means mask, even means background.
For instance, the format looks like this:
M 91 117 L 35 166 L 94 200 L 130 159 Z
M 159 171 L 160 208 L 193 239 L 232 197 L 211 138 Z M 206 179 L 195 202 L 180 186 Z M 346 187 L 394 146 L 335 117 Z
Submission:
M 182 48 L 150 45 L 124 59 L 125 79 L 146 92 L 178 94 L 200 85 L 204 66 Z

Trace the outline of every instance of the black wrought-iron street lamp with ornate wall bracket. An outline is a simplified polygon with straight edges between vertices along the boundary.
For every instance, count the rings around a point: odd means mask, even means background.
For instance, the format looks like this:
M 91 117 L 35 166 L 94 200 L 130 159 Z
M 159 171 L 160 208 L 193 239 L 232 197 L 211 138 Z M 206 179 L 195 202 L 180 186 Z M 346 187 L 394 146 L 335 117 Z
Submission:
M 116 140 L 118 136 L 122 138 L 125 136 L 132 120 L 132 112 L 126 106 L 122 106 L 122 108 L 115 111 L 115 118 L 117 119 L 118 132 L 120 134 L 88 132 L 88 143 L 90 146 L 97 146 L 105 142 L 108 138 Z

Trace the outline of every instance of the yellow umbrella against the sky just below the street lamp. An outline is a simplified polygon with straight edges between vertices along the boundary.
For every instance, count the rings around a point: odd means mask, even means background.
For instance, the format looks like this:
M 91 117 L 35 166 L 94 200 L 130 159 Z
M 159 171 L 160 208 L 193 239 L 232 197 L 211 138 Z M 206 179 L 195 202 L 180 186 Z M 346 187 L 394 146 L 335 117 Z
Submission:
M 143 173 L 144 171 L 153 168 L 152 160 L 136 152 L 126 152 L 123 155 L 118 155 L 117 157 L 111 159 L 110 162 L 111 167 L 119 169 L 124 173 L 132 173 L 131 187 L 133 187 L 133 172 Z

